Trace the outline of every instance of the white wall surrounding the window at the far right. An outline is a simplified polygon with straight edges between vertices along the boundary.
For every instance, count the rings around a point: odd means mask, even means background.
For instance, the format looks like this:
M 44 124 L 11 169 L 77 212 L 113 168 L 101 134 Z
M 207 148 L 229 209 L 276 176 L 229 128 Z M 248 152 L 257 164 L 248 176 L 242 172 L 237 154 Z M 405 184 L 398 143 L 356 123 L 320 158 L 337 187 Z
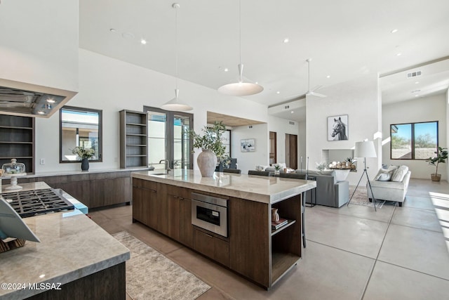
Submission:
M 412 122 L 431 122 L 438 121 L 438 145 L 447 147 L 447 126 L 446 109 L 447 100 L 444 94 L 429 96 L 427 98 L 417 98 L 392 103 L 382 106 L 382 131 L 384 140 L 389 138 L 391 124 L 412 123 Z M 384 164 L 400 165 L 405 164 L 412 172 L 412 178 L 430 179 L 430 174 L 435 172 L 435 167 L 430 166 L 428 162 L 413 159 L 390 159 L 390 143 L 384 143 L 382 162 Z M 441 165 L 440 165 L 441 167 Z M 446 170 L 447 166 L 443 167 Z M 438 167 L 438 170 L 440 168 Z M 447 179 L 446 171 L 438 171 L 442 179 Z

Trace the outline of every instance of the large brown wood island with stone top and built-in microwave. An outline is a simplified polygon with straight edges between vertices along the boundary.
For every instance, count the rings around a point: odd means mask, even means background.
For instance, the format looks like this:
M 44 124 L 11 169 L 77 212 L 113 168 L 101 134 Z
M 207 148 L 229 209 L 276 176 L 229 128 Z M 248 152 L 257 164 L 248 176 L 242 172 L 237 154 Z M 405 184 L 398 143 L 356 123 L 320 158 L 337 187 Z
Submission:
M 133 177 L 133 221 L 269 289 L 302 257 L 302 193 L 315 181 L 175 169 Z M 227 202 L 227 235 L 192 225 L 197 194 Z M 272 230 L 272 208 L 288 223 Z M 218 215 L 212 211 L 212 214 Z M 223 213 L 224 214 L 224 213 Z

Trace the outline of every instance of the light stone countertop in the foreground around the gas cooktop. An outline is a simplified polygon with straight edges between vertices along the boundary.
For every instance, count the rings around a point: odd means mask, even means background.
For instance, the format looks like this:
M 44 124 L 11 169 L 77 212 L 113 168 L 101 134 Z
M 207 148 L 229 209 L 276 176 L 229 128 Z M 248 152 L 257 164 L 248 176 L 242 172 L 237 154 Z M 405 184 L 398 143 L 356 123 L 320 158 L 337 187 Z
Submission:
M 41 242 L 27 241 L 24 247 L 0 253 L 0 282 L 64 285 L 130 259 L 123 244 L 84 214 L 58 212 L 23 220 Z M 24 299 L 39 292 L 43 290 L 0 289 L 0 299 Z

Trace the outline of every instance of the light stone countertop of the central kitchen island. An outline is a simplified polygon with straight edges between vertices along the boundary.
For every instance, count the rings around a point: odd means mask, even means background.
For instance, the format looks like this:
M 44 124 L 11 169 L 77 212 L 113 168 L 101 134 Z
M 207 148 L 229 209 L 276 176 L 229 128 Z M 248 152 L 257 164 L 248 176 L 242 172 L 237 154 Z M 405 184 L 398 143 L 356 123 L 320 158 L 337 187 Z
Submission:
M 168 174 L 164 173 L 163 169 L 155 169 L 154 171 L 132 172 L 131 176 L 268 204 L 274 204 L 311 188 L 316 188 L 316 181 L 291 178 L 221 172 L 215 172 L 213 177 L 202 177 L 199 171 L 183 169 L 175 169 Z

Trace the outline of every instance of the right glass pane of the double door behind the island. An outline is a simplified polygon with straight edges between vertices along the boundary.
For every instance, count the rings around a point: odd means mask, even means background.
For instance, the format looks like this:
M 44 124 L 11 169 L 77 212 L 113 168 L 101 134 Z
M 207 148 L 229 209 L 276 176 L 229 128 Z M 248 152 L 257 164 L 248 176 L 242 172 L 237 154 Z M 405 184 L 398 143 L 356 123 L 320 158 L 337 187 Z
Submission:
M 190 138 L 186 131 L 190 128 L 190 117 L 174 115 L 173 127 L 173 168 L 189 169 Z

